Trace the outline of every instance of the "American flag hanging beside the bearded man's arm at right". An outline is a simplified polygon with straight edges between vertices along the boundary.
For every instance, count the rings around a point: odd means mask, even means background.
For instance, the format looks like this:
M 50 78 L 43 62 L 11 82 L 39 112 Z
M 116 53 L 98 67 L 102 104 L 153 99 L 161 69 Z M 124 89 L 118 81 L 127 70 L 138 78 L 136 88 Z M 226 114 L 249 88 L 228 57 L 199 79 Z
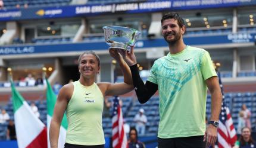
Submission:
M 221 104 L 220 119 L 218 124 L 218 147 L 227 148 L 232 147 L 236 142 L 236 130 L 233 125 L 232 117 L 229 108 L 224 103 L 223 85 L 221 83 L 220 72 L 218 74 L 218 82 L 220 83 L 223 101 Z

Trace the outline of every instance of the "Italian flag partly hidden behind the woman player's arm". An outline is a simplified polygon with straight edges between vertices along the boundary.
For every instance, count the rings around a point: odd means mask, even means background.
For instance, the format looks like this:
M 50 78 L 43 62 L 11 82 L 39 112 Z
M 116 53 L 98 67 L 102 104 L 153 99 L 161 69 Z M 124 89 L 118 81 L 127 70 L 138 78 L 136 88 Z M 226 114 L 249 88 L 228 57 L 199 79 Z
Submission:
M 54 114 L 54 106 L 57 101 L 57 97 L 54 94 L 54 91 L 52 91 L 52 87 L 50 83 L 48 82 L 48 79 L 46 79 L 47 83 L 47 92 L 46 92 L 46 99 L 47 99 L 47 131 L 49 133 L 49 127 L 52 120 L 52 115 Z M 60 127 L 60 135 L 58 140 L 58 148 L 63 148 L 65 144 L 65 136 L 67 133 L 67 116 L 64 114 L 63 121 L 61 122 Z M 50 147 L 49 142 L 49 134 L 48 134 L 48 147 Z

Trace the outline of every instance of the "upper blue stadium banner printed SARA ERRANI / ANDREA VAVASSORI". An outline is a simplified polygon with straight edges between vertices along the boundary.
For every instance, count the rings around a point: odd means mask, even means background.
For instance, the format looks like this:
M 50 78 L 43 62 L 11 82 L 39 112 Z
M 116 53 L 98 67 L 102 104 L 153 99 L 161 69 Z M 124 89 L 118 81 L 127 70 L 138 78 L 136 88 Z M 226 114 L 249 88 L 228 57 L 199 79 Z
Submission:
M 256 5 L 256 0 L 170 0 L 129 2 L 120 4 L 68 5 L 62 7 L 41 7 L 0 10 L 0 21 L 29 20 L 40 18 L 65 18 L 114 14 L 118 12 L 142 13 L 179 9 L 205 9 Z

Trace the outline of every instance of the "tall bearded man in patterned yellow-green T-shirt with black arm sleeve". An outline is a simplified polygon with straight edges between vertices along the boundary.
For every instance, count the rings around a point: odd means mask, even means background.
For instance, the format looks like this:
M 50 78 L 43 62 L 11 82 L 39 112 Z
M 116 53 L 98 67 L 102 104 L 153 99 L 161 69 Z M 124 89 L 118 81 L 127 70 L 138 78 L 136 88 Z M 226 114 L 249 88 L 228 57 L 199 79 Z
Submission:
M 176 12 L 164 15 L 161 24 L 170 52 L 154 62 L 146 84 L 139 76 L 133 48 L 124 54 L 139 102 L 145 103 L 158 90 L 158 147 L 205 147 L 204 141 L 208 147 L 217 139 L 222 99 L 210 54 L 183 42 L 185 23 Z M 205 130 L 207 87 L 211 118 Z

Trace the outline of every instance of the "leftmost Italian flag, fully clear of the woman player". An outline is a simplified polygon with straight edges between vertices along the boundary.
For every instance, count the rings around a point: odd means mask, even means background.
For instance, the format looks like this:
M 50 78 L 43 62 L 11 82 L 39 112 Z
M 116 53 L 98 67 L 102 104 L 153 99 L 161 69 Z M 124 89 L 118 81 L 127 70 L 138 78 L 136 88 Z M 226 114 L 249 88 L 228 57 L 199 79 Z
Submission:
M 15 89 L 13 81 L 11 81 L 11 93 L 13 97 L 14 122 L 18 147 L 46 148 L 46 127 Z

